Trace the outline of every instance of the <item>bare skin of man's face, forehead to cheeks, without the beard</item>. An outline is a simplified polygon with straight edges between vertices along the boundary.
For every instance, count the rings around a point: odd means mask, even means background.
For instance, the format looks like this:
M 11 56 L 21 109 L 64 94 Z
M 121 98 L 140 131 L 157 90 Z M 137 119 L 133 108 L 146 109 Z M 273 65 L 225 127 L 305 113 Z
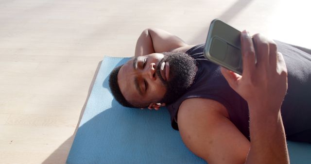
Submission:
M 129 102 L 148 106 L 150 102 L 157 103 L 164 96 L 166 88 L 155 73 L 162 58 L 163 54 L 152 53 L 139 56 L 137 68 L 133 65 L 134 59 L 121 67 L 118 74 L 119 87 Z

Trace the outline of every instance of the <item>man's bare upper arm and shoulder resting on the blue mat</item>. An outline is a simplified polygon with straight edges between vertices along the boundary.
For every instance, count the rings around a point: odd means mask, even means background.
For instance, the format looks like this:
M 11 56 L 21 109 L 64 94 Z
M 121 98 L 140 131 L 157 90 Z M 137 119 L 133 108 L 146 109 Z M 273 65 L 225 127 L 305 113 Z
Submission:
M 183 142 L 208 164 L 245 163 L 250 142 L 229 120 L 221 103 L 189 98 L 182 102 L 177 115 Z

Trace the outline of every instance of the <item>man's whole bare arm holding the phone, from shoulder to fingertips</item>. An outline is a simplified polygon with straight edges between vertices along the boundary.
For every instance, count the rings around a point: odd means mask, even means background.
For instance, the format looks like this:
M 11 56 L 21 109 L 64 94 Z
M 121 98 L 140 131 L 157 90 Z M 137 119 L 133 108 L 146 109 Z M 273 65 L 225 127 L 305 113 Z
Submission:
M 255 43 L 249 34 L 241 35 L 242 76 L 222 69 L 230 86 L 248 102 L 251 142 L 217 101 L 190 98 L 179 107 L 177 121 L 184 143 L 209 164 L 289 164 L 280 115 L 287 69 L 273 41 L 261 35 L 253 37 Z

